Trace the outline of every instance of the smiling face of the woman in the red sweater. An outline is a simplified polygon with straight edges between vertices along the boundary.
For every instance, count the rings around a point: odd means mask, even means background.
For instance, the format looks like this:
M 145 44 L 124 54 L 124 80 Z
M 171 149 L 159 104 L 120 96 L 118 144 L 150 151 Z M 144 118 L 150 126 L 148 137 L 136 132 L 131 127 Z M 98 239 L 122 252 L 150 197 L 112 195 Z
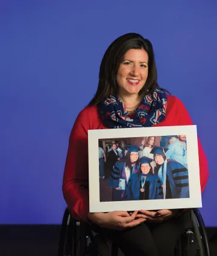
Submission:
M 148 77 L 148 53 L 143 49 L 130 49 L 119 66 L 116 81 L 119 95 L 138 94 Z

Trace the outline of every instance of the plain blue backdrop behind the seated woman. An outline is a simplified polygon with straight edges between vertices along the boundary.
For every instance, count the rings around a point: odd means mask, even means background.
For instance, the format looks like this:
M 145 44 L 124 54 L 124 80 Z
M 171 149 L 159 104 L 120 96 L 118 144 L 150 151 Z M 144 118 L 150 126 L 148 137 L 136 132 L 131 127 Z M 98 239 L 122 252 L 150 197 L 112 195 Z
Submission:
M 203 217 L 217 226 L 215 1 L 1 1 L 0 223 L 60 223 L 68 138 L 108 45 L 153 42 L 159 84 L 186 105 L 209 159 Z M 214 157 L 214 159 L 213 159 Z

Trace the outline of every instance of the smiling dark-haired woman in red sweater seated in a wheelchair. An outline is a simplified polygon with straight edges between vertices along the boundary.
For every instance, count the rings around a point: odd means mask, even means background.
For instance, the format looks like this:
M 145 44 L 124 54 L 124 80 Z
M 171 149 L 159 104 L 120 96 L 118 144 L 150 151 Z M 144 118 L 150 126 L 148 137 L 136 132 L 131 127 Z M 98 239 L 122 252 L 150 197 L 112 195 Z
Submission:
M 118 37 L 105 51 L 96 94 L 78 115 L 69 138 L 63 195 L 72 217 L 90 220 L 102 227 L 102 232 L 112 232 L 124 255 L 172 255 L 183 224 L 190 222 L 189 211 L 89 213 L 87 133 L 90 129 L 190 124 L 183 103 L 157 84 L 151 42 L 136 33 Z M 203 192 L 209 170 L 200 141 L 198 150 Z

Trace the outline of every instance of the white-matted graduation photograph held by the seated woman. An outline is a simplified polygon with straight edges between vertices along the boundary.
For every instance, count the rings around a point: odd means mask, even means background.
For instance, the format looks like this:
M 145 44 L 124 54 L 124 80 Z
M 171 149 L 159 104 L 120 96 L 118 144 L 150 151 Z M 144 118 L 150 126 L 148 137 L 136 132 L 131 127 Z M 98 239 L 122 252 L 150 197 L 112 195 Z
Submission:
M 88 131 L 90 212 L 200 208 L 197 126 Z

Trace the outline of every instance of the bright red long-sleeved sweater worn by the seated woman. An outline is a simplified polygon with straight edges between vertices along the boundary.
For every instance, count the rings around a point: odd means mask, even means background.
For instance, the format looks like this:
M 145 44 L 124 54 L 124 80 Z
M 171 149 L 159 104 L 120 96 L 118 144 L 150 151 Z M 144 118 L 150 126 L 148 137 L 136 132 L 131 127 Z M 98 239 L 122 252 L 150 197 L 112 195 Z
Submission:
M 156 126 L 184 126 L 193 124 L 183 103 L 168 95 L 166 118 Z M 96 106 L 85 107 L 75 120 L 69 138 L 68 155 L 63 176 L 63 196 L 75 219 L 87 220 L 89 213 L 87 131 L 108 129 L 99 118 Z M 200 182 L 203 192 L 209 178 L 207 158 L 198 140 Z

